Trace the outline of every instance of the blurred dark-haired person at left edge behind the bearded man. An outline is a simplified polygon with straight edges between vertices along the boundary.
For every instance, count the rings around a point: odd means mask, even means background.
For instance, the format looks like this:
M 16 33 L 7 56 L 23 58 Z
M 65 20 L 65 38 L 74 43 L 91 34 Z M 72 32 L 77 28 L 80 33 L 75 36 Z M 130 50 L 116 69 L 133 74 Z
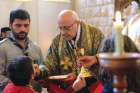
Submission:
M 0 40 L 3 40 L 4 38 L 9 37 L 10 33 L 11 33 L 11 29 L 9 27 L 2 27 L 1 34 L 0 34 Z

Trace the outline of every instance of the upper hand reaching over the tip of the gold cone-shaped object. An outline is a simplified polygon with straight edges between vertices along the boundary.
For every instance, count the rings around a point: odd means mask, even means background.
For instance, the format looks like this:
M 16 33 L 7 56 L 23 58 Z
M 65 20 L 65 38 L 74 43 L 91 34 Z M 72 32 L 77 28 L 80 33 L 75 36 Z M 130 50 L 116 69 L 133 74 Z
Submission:
M 77 64 L 84 66 L 85 68 L 89 68 L 94 64 L 97 64 L 97 58 L 95 56 L 83 56 L 77 60 Z

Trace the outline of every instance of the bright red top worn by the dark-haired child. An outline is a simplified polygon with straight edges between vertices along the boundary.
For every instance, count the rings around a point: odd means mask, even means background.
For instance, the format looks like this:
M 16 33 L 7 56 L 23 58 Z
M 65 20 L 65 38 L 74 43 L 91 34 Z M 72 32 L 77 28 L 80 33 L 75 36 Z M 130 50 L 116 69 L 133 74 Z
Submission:
M 13 83 L 8 83 L 3 93 L 35 93 L 35 91 L 27 86 L 15 86 Z

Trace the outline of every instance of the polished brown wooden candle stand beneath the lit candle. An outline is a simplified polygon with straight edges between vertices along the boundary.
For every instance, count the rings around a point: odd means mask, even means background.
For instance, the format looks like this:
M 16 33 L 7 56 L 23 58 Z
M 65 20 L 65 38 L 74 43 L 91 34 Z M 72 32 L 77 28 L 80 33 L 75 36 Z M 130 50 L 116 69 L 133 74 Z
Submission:
M 123 53 L 100 53 L 98 55 L 100 66 L 113 74 L 113 92 L 127 92 L 127 73 L 133 73 L 136 70 L 140 54 Z

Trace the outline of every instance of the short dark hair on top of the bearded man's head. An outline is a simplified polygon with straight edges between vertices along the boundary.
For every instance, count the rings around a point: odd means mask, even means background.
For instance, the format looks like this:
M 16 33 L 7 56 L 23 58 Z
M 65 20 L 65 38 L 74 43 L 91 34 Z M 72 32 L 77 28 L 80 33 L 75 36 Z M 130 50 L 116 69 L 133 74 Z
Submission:
M 29 19 L 30 21 L 30 15 L 24 9 L 13 10 L 10 13 L 10 23 L 13 23 L 15 19 L 21 19 L 21 20 Z

